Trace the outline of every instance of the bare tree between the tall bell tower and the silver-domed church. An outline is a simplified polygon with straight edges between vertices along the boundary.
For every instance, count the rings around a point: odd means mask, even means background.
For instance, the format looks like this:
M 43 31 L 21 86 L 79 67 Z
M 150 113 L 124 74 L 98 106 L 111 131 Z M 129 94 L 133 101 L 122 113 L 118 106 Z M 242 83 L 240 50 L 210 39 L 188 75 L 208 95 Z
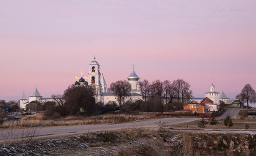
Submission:
M 118 98 L 119 105 L 121 106 L 121 101 L 124 101 L 125 98 L 130 95 L 131 85 L 127 84 L 127 80 L 118 80 L 117 82 L 111 83 L 108 90 L 115 93 Z

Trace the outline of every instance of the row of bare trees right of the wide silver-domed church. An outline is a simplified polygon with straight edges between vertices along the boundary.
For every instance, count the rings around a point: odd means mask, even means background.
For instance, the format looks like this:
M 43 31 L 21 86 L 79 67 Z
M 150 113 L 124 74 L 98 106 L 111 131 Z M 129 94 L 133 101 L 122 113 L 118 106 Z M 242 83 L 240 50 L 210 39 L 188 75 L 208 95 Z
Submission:
M 142 83 L 143 86 L 141 90 L 144 101 L 146 101 L 146 98 L 164 96 L 166 102 L 167 99 L 170 99 L 169 102 L 172 102 L 173 99 L 177 99 L 178 102 L 185 103 L 192 97 L 189 82 L 186 82 L 184 79 L 176 79 L 173 82 L 169 80 L 161 82 L 157 79 L 151 83 L 149 83 L 147 79 L 144 79 Z

